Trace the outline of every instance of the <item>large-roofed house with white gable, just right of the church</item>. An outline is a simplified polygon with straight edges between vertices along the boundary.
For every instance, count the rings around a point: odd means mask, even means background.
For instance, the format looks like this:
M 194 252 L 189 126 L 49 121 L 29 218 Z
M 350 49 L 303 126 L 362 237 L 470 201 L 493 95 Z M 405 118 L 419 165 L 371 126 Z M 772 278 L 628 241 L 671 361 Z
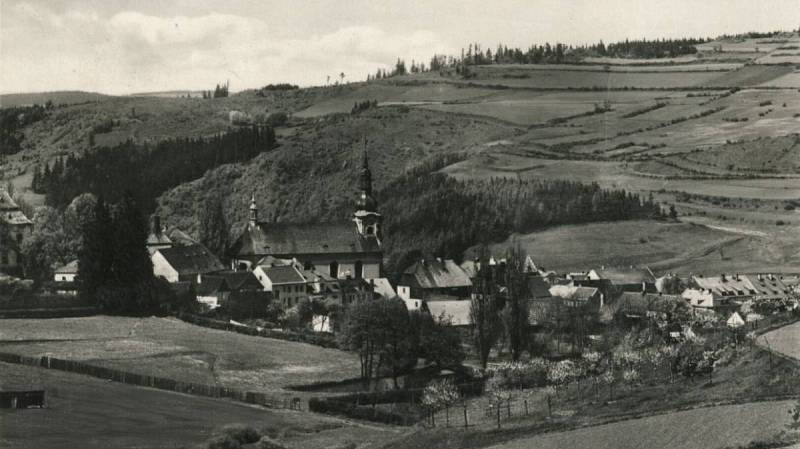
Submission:
M 403 271 L 399 285 L 409 287 L 409 296 L 420 299 L 434 294 L 468 298 L 472 290 L 469 275 L 452 259 L 414 262 Z

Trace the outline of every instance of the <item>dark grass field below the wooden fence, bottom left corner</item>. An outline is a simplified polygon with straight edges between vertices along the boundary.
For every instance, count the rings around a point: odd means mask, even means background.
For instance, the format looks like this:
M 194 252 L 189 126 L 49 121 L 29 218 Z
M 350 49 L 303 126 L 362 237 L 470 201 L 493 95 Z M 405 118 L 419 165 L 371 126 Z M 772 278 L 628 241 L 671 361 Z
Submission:
M 396 429 L 303 412 L 267 410 L 0 363 L 3 385 L 44 387 L 45 409 L 0 409 L 0 447 L 18 449 L 195 448 L 229 424 L 244 424 L 291 448 L 384 443 Z M 335 443 L 335 444 L 334 444 Z

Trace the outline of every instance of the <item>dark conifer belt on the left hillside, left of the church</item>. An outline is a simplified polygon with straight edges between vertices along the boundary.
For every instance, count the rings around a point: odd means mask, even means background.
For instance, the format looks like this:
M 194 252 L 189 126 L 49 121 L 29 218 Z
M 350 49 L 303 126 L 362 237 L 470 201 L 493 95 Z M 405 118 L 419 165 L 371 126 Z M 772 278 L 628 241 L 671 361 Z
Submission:
M 116 202 L 131 190 L 149 213 L 162 192 L 219 165 L 252 159 L 274 146 L 275 132 L 269 126 L 242 127 L 210 138 L 168 139 L 155 145 L 127 141 L 83 156 L 60 158 L 43 169 L 37 167 L 31 187 L 58 209 L 81 193 Z

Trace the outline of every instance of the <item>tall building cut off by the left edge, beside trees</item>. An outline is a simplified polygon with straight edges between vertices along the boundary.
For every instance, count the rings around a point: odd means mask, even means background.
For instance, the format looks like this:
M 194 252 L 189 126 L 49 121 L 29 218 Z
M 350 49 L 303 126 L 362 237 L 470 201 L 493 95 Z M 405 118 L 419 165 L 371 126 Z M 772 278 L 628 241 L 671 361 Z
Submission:
M 0 189 L 0 272 L 21 272 L 22 240 L 33 232 L 33 222 L 25 216 L 8 191 Z

